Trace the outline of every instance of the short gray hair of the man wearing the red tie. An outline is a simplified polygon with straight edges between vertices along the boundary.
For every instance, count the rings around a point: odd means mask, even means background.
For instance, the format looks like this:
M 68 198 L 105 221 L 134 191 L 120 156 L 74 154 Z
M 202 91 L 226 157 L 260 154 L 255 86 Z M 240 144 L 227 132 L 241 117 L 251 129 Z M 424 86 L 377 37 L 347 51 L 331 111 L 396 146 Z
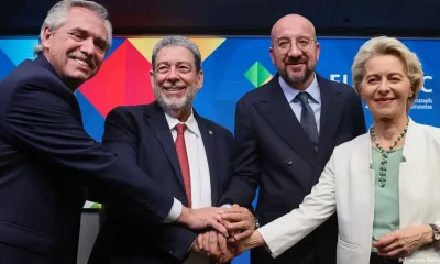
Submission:
M 157 53 L 163 48 L 163 47 L 168 47 L 168 46 L 176 46 L 176 47 L 185 47 L 188 51 L 190 51 L 194 55 L 194 62 L 196 64 L 196 69 L 197 73 L 200 72 L 201 69 L 201 55 L 200 51 L 197 47 L 197 45 L 188 40 L 185 36 L 179 36 L 179 35 L 170 35 L 162 38 L 160 42 L 156 43 L 153 47 L 153 55 L 152 55 L 152 67 L 153 70 L 156 67 L 156 56 Z

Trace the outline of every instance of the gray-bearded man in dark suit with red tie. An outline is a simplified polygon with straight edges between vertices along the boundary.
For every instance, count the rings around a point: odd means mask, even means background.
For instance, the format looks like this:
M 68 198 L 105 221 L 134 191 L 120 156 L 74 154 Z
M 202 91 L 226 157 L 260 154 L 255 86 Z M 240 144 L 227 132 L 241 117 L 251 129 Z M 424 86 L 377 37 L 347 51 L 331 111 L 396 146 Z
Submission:
M 185 206 L 217 205 L 229 184 L 233 138 L 193 108 L 204 82 L 200 52 L 186 37 L 168 36 L 153 48 L 152 67 L 156 101 L 113 109 L 106 119 L 102 144 L 138 163 Z M 180 125 L 185 130 L 179 131 Z M 179 138 L 185 142 L 183 150 Z M 113 202 L 105 204 L 103 218 L 89 264 L 210 263 L 193 246 L 197 233 L 188 228 L 145 224 Z M 219 237 L 218 248 L 227 246 Z

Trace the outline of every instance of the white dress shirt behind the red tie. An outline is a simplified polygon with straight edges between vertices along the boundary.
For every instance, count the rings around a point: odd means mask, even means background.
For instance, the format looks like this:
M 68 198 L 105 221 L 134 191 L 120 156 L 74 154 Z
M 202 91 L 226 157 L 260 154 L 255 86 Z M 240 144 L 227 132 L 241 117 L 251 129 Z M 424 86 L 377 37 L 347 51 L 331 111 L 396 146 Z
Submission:
M 177 139 L 175 127 L 180 122 L 178 119 L 165 113 L 173 140 Z M 189 174 L 191 178 L 191 208 L 211 207 L 211 178 L 209 175 L 208 158 L 205 151 L 204 140 L 201 139 L 199 125 L 195 119 L 193 111 L 188 120 L 185 122 L 185 144 L 188 154 Z M 176 202 L 175 202 L 176 204 Z M 180 209 L 182 211 L 182 209 Z M 189 250 L 189 249 L 188 249 Z M 208 264 L 209 257 L 204 254 L 191 252 L 184 264 Z

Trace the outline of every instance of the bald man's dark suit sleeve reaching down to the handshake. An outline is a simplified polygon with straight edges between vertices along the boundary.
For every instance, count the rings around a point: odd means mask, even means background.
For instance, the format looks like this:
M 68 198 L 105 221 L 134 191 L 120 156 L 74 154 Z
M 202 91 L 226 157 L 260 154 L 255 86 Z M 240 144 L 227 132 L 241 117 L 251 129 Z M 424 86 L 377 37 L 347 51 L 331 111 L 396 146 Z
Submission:
M 238 204 L 252 208 L 256 188 L 260 185 L 260 150 L 252 128 L 249 111 L 239 100 L 235 109 L 235 139 L 232 162 L 232 177 L 219 206 Z

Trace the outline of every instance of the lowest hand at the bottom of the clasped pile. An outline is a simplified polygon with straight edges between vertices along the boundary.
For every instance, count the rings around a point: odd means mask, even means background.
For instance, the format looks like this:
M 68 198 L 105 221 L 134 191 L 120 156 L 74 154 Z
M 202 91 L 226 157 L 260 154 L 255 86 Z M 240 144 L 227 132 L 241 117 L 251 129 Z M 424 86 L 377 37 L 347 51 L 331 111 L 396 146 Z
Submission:
M 227 243 L 227 239 L 211 230 L 197 237 L 197 248 L 216 263 L 230 262 L 235 256 L 235 249 Z

